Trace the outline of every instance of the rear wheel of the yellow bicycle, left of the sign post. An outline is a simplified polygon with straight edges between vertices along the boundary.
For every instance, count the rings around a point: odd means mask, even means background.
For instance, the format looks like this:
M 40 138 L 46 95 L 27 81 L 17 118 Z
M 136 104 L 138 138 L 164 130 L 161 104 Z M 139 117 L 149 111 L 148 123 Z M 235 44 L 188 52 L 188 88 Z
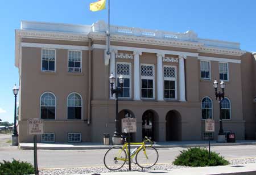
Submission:
M 104 165 L 109 170 L 117 170 L 123 167 L 126 159 L 127 155 L 122 147 L 113 147 L 105 153 Z

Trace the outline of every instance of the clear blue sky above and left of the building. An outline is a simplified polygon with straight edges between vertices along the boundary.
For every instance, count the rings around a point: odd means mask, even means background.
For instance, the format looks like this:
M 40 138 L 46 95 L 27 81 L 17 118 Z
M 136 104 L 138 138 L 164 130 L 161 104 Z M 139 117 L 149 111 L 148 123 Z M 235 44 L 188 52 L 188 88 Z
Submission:
M 12 88 L 19 82 L 14 66 L 14 29 L 20 20 L 71 24 L 107 22 L 107 10 L 89 11 L 96 0 L 0 1 L 0 118 L 13 122 Z M 111 24 L 172 32 L 195 31 L 199 37 L 236 41 L 241 49 L 256 51 L 256 1 L 140 1 L 111 0 Z M 38 117 L 38 116 L 35 116 Z

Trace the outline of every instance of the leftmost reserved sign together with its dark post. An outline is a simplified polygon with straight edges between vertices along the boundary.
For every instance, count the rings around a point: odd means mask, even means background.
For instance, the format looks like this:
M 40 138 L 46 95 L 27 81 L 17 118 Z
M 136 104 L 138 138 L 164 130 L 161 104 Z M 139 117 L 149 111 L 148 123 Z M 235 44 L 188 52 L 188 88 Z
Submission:
M 30 118 L 27 121 L 28 135 L 34 135 L 34 168 L 35 174 L 38 175 L 38 134 L 44 133 L 44 121 L 43 119 Z

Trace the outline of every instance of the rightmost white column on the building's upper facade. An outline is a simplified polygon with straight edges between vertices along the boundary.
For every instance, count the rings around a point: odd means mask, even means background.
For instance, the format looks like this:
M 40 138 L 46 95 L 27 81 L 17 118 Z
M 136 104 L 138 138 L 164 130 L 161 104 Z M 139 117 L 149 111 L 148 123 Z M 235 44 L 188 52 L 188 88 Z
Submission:
M 180 55 L 179 56 L 179 77 L 180 77 L 180 101 L 186 101 L 185 99 L 185 67 L 184 67 L 184 59 L 186 59 L 186 56 Z

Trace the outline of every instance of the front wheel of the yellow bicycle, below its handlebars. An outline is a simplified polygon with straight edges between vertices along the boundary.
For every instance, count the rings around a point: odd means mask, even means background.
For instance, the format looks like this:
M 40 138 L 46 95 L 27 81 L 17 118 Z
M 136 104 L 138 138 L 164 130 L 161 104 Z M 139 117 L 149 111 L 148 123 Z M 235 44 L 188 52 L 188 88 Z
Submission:
M 135 160 L 139 167 L 151 168 L 158 161 L 158 151 L 154 147 L 146 146 L 146 149 L 139 150 Z

